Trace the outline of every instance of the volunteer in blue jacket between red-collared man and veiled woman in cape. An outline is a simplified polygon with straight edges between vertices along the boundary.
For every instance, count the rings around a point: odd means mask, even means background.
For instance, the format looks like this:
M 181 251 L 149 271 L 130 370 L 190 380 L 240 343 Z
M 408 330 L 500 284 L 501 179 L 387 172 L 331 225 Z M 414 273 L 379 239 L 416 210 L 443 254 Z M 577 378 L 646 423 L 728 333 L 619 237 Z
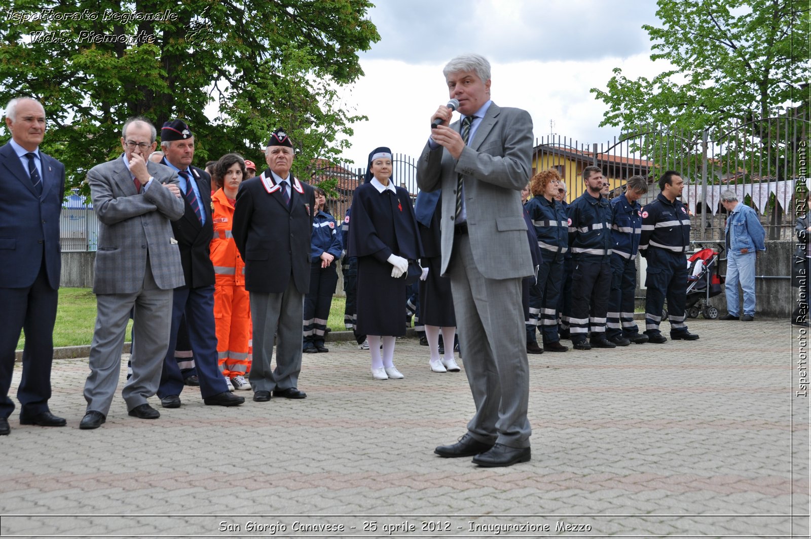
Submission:
M 304 351 L 329 351 L 324 347 L 329 308 L 338 283 L 335 261 L 341 257 L 341 233 L 335 218 L 324 211 L 327 196 L 315 188 L 315 217 L 310 243 L 310 291 L 304 298 Z

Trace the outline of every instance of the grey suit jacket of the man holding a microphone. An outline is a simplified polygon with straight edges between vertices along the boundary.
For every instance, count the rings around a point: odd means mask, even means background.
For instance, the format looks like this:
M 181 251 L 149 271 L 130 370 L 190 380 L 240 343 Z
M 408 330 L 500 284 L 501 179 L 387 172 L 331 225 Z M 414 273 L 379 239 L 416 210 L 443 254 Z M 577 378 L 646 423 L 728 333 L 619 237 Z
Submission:
M 459 131 L 460 123 L 451 124 Z M 457 175 L 464 175 L 470 249 L 478 271 L 503 279 L 533 274 L 521 189 L 532 170 L 532 119 L 526 110 L 491 103 L 459 160 L 426 144 L 417 163 L 423 191 L 442 189 L 442 274 L 453 250 Z

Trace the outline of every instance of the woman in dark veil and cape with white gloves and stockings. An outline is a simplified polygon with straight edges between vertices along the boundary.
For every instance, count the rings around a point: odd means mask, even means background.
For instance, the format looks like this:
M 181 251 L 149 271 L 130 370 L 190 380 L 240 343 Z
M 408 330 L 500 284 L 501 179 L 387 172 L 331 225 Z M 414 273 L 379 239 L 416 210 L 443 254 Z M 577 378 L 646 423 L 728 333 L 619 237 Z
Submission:
M 405 334 L 405 274 L 422 246 L 409 193 L 391 181 L 392 151 L 369 154 L 367 183 L 355 189 L 349 256 L 358 257 L 358 333 L 367 334 L 375 380 L 401 378 L 394 339 Z M 383 354 L 380 354 L 380 342 Z

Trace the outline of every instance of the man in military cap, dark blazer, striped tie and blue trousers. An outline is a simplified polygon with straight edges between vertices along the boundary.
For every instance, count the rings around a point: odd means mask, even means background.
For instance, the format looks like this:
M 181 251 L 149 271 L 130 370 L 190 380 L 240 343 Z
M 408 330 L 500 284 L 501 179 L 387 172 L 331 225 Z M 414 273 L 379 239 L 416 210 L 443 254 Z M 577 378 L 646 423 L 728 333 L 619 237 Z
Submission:
M 178 175 L 178 187 L 183 194 L 183 217 L 172 222 L 172 230 L 180 247 L 186 284 L 174 291 L 172 333 L 157 395 L 161 397 L 162 407 L 180 406 L 183 375 L 174 359 L 174 348 L 180 320 L 185 314 L 203 402 L 214 406 L 238 406 L 245 402 L 245 398 L 231 395 L 217 366 L 214 265 L 208 250 L 214 235 L 211 176 L 205 170 L 191 166 L 195 157 L 195 136 L 182 120 L 163 124 L 161 149 L 164 153 L 161 163 Z

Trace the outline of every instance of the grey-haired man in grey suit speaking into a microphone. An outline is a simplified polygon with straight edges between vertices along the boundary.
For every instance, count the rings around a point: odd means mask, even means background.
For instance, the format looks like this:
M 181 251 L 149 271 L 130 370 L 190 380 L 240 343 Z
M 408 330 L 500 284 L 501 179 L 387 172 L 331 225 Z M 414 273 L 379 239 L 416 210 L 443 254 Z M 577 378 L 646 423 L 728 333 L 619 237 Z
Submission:
M 478 54 L 444 67 L 461 121 L 440 106 L 417 166 L 419 188 L 442 189 L 442 274 L 451 279 L 459 343 L 476 415 L 442 457 L 484 467 L 530 460 L 529 365 L 521 278 L 532 274 L 521 208 L 530 178 L 532 119 L 490 100 L 490 63 Z

